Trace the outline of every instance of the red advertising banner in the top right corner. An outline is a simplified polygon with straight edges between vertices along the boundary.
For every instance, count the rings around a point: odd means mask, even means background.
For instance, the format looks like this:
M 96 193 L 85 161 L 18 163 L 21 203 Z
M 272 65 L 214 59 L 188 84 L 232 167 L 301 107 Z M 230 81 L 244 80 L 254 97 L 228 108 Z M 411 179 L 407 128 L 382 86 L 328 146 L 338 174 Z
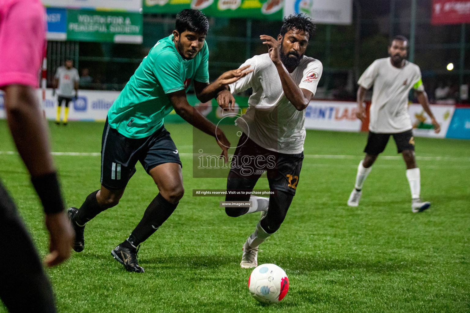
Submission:
M 431 23 L 470 23 L 470 0 L 432 0 Z

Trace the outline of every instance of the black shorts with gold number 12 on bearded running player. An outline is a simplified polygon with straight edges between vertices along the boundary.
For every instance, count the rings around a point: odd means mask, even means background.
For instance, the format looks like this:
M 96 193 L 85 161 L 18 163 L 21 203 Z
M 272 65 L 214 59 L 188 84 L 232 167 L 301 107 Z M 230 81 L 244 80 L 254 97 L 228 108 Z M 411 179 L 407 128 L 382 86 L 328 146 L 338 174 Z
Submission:
M 235 149 L 228 177 L 243 178 L 245 189 L 253 189 L 266 172 L 269 188 L 295 195 L 304 153 L 276 153 L 257 145 L 242 134 Z

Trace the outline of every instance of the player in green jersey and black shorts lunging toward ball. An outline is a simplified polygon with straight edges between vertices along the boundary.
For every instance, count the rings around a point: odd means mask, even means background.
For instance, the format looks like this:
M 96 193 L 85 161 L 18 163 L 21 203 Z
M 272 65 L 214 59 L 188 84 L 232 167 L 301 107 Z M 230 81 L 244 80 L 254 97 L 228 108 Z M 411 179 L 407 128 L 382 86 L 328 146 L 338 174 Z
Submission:
M 176 15 L 176 30 L 150 49 L 110 107 L 102 137 L 101 189 L 89 194 L 79 209 L 68 210 L 76 232 L 75 251 L 84 248 L 86 222 L 118 204 L 140 161 L 159 193 L 131 235 L 111 254 L 126 270 L 144 271 L 137 262 L 139 244 L 166 221 L 184 193 L 178 149 L 163 125 L 164 116 L 173 109 L 194 127 L 216 137 L 221 157 L 227 161 L 230 143 L 220 129 L 188 104 L 186 92 L 194 84 L 197 99 L 207 102 L 251 70 L 228 71 L 209 84 L 208 28 L 203 13 L 182 10 Z

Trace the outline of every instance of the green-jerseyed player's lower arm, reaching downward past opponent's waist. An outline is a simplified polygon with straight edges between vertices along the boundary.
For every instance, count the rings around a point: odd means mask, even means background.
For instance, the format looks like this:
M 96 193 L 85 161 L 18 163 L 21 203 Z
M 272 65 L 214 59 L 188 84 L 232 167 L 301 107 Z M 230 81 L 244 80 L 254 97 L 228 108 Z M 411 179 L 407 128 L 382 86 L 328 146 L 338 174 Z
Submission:
M 225 137 L 222 130 L 217 128 L 211 121 L 206 119 L 199 111 L 190 106 L 188 99 L 186 99 L 186 92 L 180 90 L 167 94 L 172 102 L 175 112 L 180 115 L 186 122 L 196 127 L 198 130 L 204 131 L 206 134 L 215 137 L 217 144 L 222 149 L 220 156 L 224 158 L 225 162 L 228 160 L 227 150 L 230 147 L 230 142 Z

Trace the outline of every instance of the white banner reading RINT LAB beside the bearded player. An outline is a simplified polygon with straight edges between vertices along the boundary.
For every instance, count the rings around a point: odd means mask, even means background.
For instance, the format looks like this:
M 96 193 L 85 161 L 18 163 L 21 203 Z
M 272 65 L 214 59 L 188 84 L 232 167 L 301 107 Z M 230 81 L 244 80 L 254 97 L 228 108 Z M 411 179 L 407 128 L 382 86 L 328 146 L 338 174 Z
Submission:
M 357 103 L 313 100 L 305 109 L 305 128 L 309 130 L 360 131 Z

